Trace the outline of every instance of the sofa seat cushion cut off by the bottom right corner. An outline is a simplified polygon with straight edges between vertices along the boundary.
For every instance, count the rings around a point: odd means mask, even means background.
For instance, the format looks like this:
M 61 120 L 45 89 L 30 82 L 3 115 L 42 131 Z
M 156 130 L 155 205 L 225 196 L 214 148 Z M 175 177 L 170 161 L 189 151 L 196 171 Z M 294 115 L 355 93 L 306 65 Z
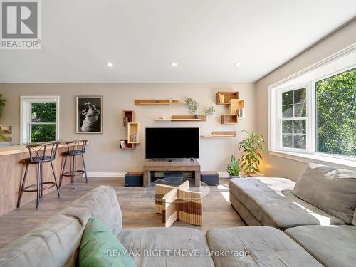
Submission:
M 286 234 L 324 266 L 354 267 L 356 264 L 356 227 L 299 226 Z

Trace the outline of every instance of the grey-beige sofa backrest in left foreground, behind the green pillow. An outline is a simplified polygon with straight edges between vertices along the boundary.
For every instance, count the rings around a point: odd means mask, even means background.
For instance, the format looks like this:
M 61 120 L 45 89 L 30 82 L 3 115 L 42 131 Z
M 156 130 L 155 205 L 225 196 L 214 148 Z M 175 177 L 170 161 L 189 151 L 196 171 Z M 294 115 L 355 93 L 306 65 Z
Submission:
M 75 266 L 80 239 L 90 217 L 103 221 L 115 236 L 120 233 L 121 210 L 112 187 L 93 189 L 2 248 L 0 266 Z

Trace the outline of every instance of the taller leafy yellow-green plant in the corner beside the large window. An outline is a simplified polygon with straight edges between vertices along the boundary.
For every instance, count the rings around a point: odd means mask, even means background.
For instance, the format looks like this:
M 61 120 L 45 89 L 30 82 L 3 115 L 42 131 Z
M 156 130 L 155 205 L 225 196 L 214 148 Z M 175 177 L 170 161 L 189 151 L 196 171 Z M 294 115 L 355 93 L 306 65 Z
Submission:
M 259 172 L 258 165 L 261 162 L 261 151 L 264 149 L 263 143 L 265 140 L 262 135 L 251 132 L 251 135 L 246 131 L 248 137 L 239 143 L 239 149 L 241 151 L 241 167 L 248 177 L 251 174 Z

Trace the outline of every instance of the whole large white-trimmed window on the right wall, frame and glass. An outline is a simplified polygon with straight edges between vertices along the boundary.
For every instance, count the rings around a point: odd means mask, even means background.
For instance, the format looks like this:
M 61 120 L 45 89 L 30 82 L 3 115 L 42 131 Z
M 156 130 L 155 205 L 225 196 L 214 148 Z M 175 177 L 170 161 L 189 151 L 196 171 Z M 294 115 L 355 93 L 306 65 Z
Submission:
M 356 159 L 356 48 L 269 88 L 268 150 Z

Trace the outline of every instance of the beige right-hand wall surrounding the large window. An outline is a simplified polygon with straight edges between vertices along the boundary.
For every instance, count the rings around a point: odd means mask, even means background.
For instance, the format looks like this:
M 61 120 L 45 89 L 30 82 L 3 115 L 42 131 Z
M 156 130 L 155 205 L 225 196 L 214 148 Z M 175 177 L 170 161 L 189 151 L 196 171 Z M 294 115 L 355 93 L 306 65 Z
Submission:
M 303 68 L 313 65 L 313 63 L 323 60 L 323 58 L 327 58 L 355 42 L 356 21 L 337 31 L 308 51 L 305 51 L 305 53 L 294 58 L 293 61 L 290 61 L 285 66 L 259 80 L 256 83 L 256 107 L 258 107 L 256 110 L 257 131 L 265 137 L 268 135 L 268 86 L 283 78 L 287 78 L 299 70 L 303 70 Z M 265 152 L 261 171 L 268 176 L 288 177 L 295 180 L 298 179 L 300 172 L 303 171 L 305 166 L 305 162 L 275 157 Z

